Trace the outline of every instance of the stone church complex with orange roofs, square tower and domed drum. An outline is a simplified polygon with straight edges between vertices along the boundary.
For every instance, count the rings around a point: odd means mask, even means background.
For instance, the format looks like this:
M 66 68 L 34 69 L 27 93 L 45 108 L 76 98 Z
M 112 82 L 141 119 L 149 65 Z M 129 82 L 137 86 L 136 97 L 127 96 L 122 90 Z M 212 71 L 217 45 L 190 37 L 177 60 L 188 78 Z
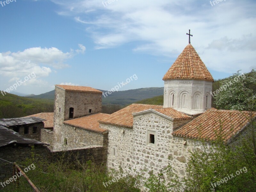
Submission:
M 121 165 L 159 172 L 170 159 L 173 171 L 183 177 L 188 151 L 202 148 L 201 139 L 211 145 L 220 121 L 228 143 L 246 130 L 249 112 L 211 108 L 213 78 L 191 44 L 163 80 L 164 106 L 132 104 L 110 115 L 101 113 L 101 91 L 55 85 L 53 140 L 48 143 L 53 149 L 102 146 L 108 169 Z

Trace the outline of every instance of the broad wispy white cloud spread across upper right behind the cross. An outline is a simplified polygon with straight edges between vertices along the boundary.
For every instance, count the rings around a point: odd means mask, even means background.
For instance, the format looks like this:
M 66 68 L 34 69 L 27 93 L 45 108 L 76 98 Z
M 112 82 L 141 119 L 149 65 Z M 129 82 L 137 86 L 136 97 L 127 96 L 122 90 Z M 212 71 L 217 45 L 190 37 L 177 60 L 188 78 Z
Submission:
M 135 52 L 175 59 L 188 44 L 186 33 L 191 29 L 192 45 L 208 68 L 232 73 L 255 67 L 256 3 L 252 0 L 222 1 L 215 6 L 203 0 L 123 0 L 107 6 L 98 0 L 52 2 L 62 8 L 61 14 L 84 25 L 96 49 L 136 42 Z

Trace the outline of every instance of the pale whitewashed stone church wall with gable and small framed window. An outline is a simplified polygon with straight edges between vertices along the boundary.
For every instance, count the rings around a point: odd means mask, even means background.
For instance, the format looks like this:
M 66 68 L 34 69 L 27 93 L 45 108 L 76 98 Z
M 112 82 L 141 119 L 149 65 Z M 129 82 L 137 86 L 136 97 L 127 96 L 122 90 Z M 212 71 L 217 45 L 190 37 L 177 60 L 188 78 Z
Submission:
M 168 165 L 170 157 L 174 172 L 180 178 L 184 177 L 189 149 L 202 149 L 199 141 L 172 136 L 173 130 L 188 121 L 190 120 L 172 122 L 171 119 L 150 112 L 134 116 L 133 129 L 100 124 L 108 129 L 108 169 L 118 170 L 121 165 L 127 171 L 129 167 L 137 171 L 146 167 L 158 173 Z M 147 143 L 147 130 L 156 132 L 155 145 Z M 184 140 L 187 140 L 186 145 Z

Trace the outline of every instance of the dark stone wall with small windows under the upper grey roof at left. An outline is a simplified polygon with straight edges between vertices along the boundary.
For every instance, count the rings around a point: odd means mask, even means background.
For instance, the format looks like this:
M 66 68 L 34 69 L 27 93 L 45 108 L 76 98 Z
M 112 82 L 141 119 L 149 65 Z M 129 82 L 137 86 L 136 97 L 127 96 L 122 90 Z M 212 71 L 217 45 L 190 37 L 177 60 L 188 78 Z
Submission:
M 28 125 L 18 125 L 16 127 L 19 128 L 20 135 L 23 135 L 30 139 L 36 139 L 40 141 L 41 129 L 44 129 L 44 123 L 40 122 L 40 123 L 28 124 Z M 24 133 L 25 127 L 28 127 L 28 134 Z M 35 133 L 33 133 L 33 127 L 36 127 Z M 9 127 L 9 129 L 14 130 L 14 127 Z

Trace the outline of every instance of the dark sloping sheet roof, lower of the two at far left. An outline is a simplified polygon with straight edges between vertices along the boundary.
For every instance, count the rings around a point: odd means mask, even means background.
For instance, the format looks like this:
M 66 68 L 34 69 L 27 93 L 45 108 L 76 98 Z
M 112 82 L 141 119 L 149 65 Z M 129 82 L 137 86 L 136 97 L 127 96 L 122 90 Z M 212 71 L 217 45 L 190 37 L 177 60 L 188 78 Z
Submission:
M 0 147 L 9 145 L 11 143 L 18 144 L 34 144 L 34 145 L 49 145 L 42 143 L 35 139 L 28 139 L 19 133 L 12 131 L 4 126 L 0 126 Z

